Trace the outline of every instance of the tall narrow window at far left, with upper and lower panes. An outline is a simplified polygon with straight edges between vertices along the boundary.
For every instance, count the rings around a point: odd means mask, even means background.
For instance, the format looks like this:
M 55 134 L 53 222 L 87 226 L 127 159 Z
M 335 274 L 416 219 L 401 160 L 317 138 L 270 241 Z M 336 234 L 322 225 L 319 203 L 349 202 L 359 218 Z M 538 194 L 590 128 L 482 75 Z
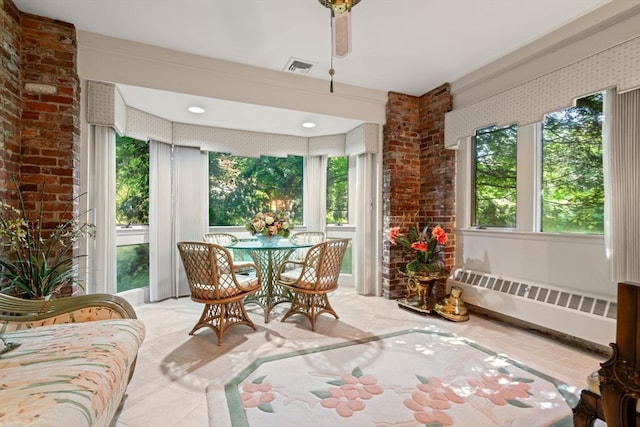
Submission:
M 116 221 L 117 292 L 149 286 L 149 146 L 118 135 Z

